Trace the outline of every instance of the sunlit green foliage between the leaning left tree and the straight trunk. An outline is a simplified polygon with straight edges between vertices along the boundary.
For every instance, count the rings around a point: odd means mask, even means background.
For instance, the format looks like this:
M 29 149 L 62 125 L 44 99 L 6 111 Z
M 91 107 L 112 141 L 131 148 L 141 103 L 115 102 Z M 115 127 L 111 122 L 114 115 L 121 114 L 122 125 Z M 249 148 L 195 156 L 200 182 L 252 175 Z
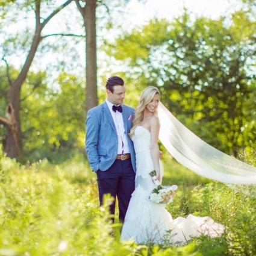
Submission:
M 45 81 L 45 73 L 30 73 L 22 95 L 23 136 L 27 160 L 47 157 L 58 149 L 84 148 L 83 80 L 61 73 L 54 87 Z M 35 84 L 39 86 L 34 90 Z M 33 156 L 29 155 L 33 152 Z

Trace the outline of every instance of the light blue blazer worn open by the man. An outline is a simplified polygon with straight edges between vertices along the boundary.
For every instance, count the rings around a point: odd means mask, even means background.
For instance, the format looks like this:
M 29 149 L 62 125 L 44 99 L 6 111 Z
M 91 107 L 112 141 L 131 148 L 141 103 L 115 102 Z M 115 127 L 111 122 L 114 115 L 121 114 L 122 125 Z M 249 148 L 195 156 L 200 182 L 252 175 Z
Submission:
M 136 172 L 136 161 L 130 133 L 134 108 L 122 104 L 123 126 L 128 140 L 131 163 Z M 90 109 L 86 119 L 86 153 L 90 166 L 96 170 L 107 170 L 116 160 L 118 148 L 116 126 L 106 102 Z

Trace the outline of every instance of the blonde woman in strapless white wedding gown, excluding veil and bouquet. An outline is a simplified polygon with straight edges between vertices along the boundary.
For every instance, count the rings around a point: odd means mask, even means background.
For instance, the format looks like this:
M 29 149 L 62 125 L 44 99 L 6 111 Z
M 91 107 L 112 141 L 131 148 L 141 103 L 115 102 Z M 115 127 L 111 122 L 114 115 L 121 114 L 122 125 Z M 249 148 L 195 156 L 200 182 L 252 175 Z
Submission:
M 133 239 L 136 243 L 163 243 L 168 239 L 173 244 L 183 244 L 202 234 L 221 236 L 224 226 L 210 217 L 190 214 L 187 218 L 172 219 L 164 204 L 149 200 L 150 193 L 163 176 L 158 148 L 159 104 L 160 92 L 157 87 L 149 86 L 143 90 L 130 133 L 136 152 L 136 189 L 131 196 L 120 239 Z M 149 175 L 152 170 L 157 173 L 154 178 Z

